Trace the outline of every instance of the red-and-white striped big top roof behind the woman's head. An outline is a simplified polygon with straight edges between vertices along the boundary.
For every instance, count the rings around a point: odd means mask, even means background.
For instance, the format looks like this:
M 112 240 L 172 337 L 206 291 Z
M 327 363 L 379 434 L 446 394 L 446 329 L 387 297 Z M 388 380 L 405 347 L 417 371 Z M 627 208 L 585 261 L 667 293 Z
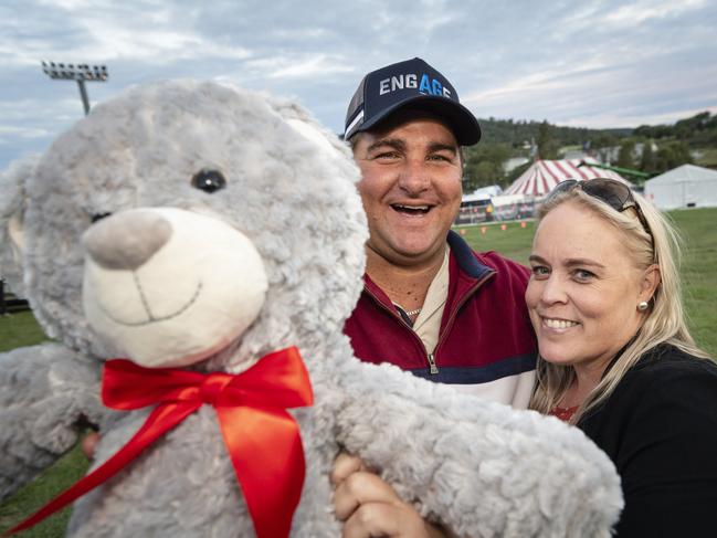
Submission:
M 581 162 L 586 165 L 578 167 Z M 590 166 L 597 162 L 594 159 L 536 160 L 504 193 L 541 197 L 566 179 L 610 178 L 630 184 L 625 178 L 612 170 Z

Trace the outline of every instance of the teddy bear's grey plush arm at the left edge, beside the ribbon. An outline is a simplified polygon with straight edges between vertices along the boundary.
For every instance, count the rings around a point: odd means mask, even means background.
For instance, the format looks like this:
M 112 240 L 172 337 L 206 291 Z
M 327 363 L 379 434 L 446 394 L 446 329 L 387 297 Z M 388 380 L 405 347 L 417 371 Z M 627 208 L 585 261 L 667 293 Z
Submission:
M 0 498 L 70 450 L 87 422 L 107 415 L 98 365 L 59 344 L 0 355 Z

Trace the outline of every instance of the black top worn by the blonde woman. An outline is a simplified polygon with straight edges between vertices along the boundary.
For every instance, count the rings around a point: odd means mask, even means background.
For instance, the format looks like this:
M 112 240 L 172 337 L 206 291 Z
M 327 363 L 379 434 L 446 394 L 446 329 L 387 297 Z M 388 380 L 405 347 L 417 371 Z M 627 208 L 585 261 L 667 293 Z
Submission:
M 717 537 L 717 365 L 662 345 L 578 426 L 622 478 L 618 536 Z

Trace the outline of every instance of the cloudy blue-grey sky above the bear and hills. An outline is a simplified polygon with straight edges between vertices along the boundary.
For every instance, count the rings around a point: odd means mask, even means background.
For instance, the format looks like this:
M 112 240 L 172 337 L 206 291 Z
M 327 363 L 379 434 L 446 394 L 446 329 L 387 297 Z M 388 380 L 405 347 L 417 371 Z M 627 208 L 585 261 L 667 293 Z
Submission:
M 91 102 L 157 78 L 293 96 L 344 129 L 362 75 L 421 56 L 478 117 L 587 127 L 717 113 L 714 0 L 3 0 L 0 169 L 83 115 L 43 59 L 102 63 Z

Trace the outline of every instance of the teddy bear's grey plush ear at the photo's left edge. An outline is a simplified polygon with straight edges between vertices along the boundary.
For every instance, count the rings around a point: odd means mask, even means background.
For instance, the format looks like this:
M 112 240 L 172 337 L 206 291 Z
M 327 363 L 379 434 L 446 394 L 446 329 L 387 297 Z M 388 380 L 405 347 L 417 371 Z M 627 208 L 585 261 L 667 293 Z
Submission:
M 23 157 L 0 173 L 0 277 L 20 297 L 24 296 L 22 254 L 27 184 L 39 160 L 39 155 Z

